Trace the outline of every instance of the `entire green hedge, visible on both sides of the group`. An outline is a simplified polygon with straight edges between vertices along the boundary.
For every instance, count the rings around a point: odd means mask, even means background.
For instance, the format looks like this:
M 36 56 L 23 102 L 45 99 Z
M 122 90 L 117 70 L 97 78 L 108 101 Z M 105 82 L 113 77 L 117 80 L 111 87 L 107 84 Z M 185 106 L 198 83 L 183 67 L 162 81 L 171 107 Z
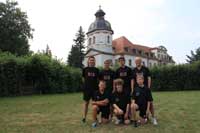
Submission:
M 200 61 L 150 69 L 154 91 L 200 90 Z M 0 96 L 81 91 L 81 70 L 44 54 L 0 53 Z

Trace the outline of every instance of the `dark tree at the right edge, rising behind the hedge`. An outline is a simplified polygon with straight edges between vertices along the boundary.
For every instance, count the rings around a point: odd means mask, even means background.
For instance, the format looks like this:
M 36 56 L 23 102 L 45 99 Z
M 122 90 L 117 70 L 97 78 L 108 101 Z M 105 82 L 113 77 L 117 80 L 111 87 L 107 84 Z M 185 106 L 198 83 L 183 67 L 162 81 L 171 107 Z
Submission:
M 195 61 L 199 61 L 200 60 L 200 47 L 196 49 L 196 51 L 192 51 L 191 50 L 191 56 L 186 55 L 188 59 L 186 59 L 186 61 L 190 64 L 192 64 Z

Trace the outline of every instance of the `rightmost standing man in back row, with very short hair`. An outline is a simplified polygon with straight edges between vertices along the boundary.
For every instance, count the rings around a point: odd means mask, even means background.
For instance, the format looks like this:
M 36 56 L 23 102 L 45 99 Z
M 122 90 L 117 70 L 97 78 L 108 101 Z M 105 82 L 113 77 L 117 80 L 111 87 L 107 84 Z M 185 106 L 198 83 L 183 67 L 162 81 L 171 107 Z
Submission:
M 135 59 L 136 67 L 133 69 L 133 77 L 134 77 L 134 88 L 138 87 L 138 83 L 136 82 L 137 76 L 144 77 L 144 85 L 148 88 L 150 93 L 150 112 L 152 115 L 152 123 L 157 125 L 157 120 L 154 115 L 154 106 L 153 106 L 153 97 L 151 93 L 151 74 L 147 67 L 142 65 L 142 59 L 140 57 L 136 57 Z

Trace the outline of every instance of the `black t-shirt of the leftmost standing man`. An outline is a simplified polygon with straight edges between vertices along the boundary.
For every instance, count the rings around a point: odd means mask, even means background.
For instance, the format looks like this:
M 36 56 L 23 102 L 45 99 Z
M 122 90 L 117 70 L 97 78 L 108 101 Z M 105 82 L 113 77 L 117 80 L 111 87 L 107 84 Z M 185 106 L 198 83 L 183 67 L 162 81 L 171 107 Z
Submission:
M 84 78 L 85 89 L 98 89 L 99 69 L 96 67 L 85 67 L 82 71 L 82 77 Z

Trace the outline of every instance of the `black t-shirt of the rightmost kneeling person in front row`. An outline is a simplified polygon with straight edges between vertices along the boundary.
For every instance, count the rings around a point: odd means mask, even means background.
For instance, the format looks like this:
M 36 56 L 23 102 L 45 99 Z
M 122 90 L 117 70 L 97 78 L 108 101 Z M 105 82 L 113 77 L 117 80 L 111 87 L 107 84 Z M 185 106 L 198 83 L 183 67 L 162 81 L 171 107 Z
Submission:
M 150 91 L 147 87 L 136 87 L 133 91 L 132 99 L 135 100 L 135 103 L 139 106 L 147 105 L 147 102 L 150 101 Z

